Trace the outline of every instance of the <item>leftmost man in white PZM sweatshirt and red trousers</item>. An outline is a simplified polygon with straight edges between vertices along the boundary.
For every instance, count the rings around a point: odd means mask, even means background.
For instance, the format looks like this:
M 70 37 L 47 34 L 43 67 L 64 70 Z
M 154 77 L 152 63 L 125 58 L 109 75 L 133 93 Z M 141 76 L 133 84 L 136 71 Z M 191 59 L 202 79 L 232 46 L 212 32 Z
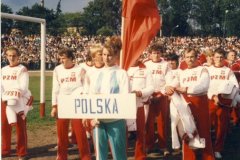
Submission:
M 15 47 L 10 47 L 6 50 L 7 59 L 9 65 L 2 68 L 2 83 L 1 91 L 10 91 L 11 89 L 19 90 L 19 101 L 18 105 L 27 107 L 26 104 L 20 103 L 24 94 L 28 92 L 29 74 L 27 69 L 19 64 L 20 52 Z M 6 115 L 6 104 L 8 102 L 1 103 L 1 116 L 2 116 L 2 156 L 9 156 L 11 151 L 11 130 L 12 126 L 9 124 Z M 16 114 L 16 113 L 15 113 Z M 25 159 L 27 155 L 27 128 L 25 115 L 17 114 L 16 125 L 17 131 L 17 155 L 19 160 Z

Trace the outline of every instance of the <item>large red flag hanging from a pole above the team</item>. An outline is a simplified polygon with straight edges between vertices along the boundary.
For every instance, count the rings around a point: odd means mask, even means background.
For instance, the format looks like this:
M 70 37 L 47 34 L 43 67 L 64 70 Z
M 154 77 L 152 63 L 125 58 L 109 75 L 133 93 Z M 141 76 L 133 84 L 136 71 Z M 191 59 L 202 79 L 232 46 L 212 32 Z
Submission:
M 128 69 L 160 29 L 155 0 L 123 0 L 124 17 L 122 67 Z

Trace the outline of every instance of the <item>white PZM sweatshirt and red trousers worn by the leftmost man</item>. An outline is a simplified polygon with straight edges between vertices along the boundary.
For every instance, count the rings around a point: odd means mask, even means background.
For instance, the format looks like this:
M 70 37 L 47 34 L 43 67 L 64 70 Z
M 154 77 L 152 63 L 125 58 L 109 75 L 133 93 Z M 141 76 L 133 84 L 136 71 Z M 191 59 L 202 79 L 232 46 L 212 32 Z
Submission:
M 17 89 L 19 92 L 19 102 L 17 107 L 20 107 L 20 110 L 25 110 L 27 105 L 23 102 L 23 95 L 28 92 L 28 83 L 29 83 L 29 74 L 23 65 L 19 64 L 14 67 L 6 66 L 2 68 L 1 76 L 1 88 L 2 94 L 13 89 Z M 11 150 L 11 126 L 6 115 L 6 103 L 2 101 L 2 155 L 10 154 Z M 16 116 L 16 113 L 13 112 L 13 116 Z M 27 154 L 27 130 L 26 130 L 26 119 L 23 120 L 20 115 L 17 115 L 16 123 L 17 131 L 17 155 L 25 156 Z

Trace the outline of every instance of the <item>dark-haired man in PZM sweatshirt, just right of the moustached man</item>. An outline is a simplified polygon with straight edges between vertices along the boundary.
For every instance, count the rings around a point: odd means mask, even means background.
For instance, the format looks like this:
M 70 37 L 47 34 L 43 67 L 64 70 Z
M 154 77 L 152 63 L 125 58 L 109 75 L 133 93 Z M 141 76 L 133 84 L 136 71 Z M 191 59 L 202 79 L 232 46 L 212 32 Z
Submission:
M 208 68 L 210 75 L 210 85 L 208 90 L 209 110 L 211 120 L 216 128 L 216 139 L 214 143 L 214 151 L 216 158 L 222 158 L 221 151 L 223 150 L 224 140 L 227 134 L 228 122 L 230 120 L 229 107 L 219 105 L 218 88 L 226 81 L 239 87 L 237 79 L 230 68 L 224 66 L 224 50 L 216 49 L 214 51 L 214 65 Z

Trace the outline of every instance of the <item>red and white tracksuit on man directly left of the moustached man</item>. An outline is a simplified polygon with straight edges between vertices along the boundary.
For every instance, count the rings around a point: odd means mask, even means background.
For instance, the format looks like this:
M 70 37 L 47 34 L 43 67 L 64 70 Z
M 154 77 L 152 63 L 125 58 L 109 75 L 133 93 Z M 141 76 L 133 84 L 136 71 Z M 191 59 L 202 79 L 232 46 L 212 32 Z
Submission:
M 171 69 L 163 59 L 160 62 L 147 61 L 145 65 L 152 73 L 154 87 L 147 120 L 147 145 L 151 148 L 155 143 L 154 123 L 157 117 L 158 141 L 160 148 L 165 149 L 167 148 L 167 126 L 169 120 L 169 102 L 168 97 L 165 95 L 165 85 Z

